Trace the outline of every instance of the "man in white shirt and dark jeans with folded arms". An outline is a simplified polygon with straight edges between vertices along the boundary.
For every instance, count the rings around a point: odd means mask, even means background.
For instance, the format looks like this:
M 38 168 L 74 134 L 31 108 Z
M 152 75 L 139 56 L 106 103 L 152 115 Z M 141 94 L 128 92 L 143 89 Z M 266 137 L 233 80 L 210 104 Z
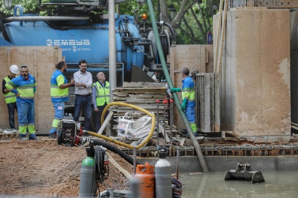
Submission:
M 87 61 L 79 62 L 80 70 L 74 73 L 75 80 L 75 115 L 74 121 L 79 121 L 81 111 L 84 114 L 84 128 L 89 131 L 91 123 L 91 93 L 92 75 L 87 72 Z

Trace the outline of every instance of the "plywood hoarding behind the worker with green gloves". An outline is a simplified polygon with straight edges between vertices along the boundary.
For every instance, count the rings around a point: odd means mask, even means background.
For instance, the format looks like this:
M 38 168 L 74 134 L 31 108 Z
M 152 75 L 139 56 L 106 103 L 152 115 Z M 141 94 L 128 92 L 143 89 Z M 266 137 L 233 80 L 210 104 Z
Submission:
M 189 68 L 190 73 L 196 69 L 200 72 L 213 72 L 213 45 L 176 45 L 176 47 L 170 47 L 170 76 L 175 87 L 182 87 L 183 78 L 180 72 L 184 67 Z M 181 92 L 177 92 L 177 94 L 181 102 Z M 186 128 L 176 108 L 175 125 L 178 129 Z

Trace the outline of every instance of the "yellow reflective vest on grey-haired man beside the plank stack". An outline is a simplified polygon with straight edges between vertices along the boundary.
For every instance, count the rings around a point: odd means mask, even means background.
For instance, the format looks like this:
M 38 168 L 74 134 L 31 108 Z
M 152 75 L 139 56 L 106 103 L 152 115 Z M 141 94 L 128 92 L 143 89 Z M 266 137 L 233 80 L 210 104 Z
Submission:
M 92 86 L 96 88 L 96 105 L 103 106 L 105 102 L 110 103 L 110 84 L 108 81 L 105 81 L 105 88 L 97 81 L 93 83 Z

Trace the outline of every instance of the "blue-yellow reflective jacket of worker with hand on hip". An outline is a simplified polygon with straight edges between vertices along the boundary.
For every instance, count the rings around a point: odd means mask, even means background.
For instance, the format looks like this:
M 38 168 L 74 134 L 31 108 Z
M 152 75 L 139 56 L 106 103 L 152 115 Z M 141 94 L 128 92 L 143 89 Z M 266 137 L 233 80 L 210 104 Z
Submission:
M 5 84 L 5 87 L 13 92 L 19 93 L 17 102 L 23 102 L 27 104 L 34 104 L 34 93 L 36 90 L 37 82 L 35 78 L 28 74 L 28 79 L 24 79 L 22 76 L 15 77 Z

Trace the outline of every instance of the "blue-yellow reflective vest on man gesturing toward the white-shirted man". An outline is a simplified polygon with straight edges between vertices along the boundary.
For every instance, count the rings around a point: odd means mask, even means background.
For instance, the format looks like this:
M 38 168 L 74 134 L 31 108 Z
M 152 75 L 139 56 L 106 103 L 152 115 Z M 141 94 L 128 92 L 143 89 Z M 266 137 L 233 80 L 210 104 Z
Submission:
M 57 78 L 62 76 L 64 83 L 67 83 L 66 77 L 60 70 L 56 70 L 51 77 L 51 100 L 52 102 L 67 102 L 68 101 L 68 88 L 60 89 L 58 86 Z M 60 77 L 60 78 L 62 78 Z

